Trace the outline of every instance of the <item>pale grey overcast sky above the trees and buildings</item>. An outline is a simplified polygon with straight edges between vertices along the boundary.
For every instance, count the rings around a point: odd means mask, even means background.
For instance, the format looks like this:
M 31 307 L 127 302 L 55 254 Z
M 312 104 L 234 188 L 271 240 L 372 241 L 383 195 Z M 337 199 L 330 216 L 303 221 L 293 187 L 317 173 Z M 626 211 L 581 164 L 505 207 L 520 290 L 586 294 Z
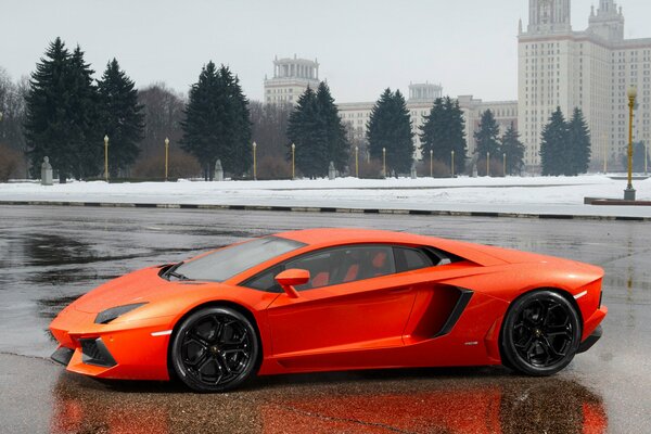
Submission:
M 651 1 L 621 0 L 627 38 L 651 37 Z M 590 5 L 573 0 L 574 30 Z M 99 78 L 116 58 L 142 88 L 187 92 L 203 64 L 224 63 L 250 99 L 272 60 L 318 58 L 339 102 L 372 101 L 410 81 L 445 94 L 516 99 L 518 20 L 528 0 L 0 0 L 0 67 L 29 74 L 48 43 L 77 43 Z

